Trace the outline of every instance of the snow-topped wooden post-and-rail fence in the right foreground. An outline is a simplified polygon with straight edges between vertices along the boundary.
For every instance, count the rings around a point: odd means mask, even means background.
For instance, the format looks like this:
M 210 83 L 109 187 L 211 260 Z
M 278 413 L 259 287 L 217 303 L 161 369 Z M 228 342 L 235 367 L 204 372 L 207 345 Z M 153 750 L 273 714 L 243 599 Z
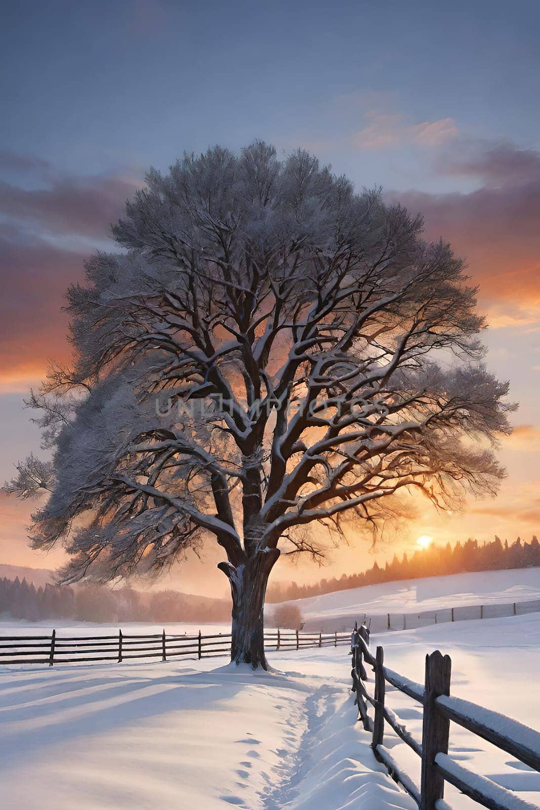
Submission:
M 373 668 L 373 695 L 368 693 L 366 686 L 368 675 L 364 663 Z M 436 650 L 426 656 L 424 684 L 416 684 L 385 667 L 381 646 L 376 648 L 373 657 L 369 649 L 368 628 L 365 625 L 359 629 L 355 627 L 352 636 L 352 691 L 356 694 L 359 719 L 364 723 L 364 729 L 372 734 L 372 749 L 377 760 L 415 799 L 419 810 L 451 810 L 444 801 L 444 782 L 450 782 L 461 793 L 491 810 L 538 810 L 538 805 L 524 801 L 512 791 L 475 774 L 448 756 L 452 720 L 530 768 L 540 771 L 540 733 L 502 714 L 461 698 L 450 697 L 451 667 L 449 656 L 443 656 Z M 385 705 L 387 683 L 423 706 L 422 742 L 415 740 L 397 715 Z M 368 714 L 368 704 L 373 707 L 373 718 Z M 385 748 L 385 723 L 421 758 L 419 787 Z

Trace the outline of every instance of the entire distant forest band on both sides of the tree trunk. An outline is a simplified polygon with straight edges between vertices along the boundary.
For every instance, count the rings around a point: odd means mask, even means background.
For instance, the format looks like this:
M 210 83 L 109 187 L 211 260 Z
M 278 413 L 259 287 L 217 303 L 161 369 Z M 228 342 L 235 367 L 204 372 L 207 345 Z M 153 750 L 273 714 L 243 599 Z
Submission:
M 314 585 L 270 584 L 266 601 L 288 602 L 304 596 L 328 594 L 334 590 L 376 585 L 402 579 L 437 577 L 449 573 L 493 571 L 499 569 L 540 566 L 540 544 L 533 537 L 530 543 L 517 538 L 508 545 L 495 537 L 492 543 L 479 545 L 476 540 L 451 546 L 432 545 L 419 549 L 402 559 L 394 555 L 392 562 L 381 567 L 376 562 L 363 573 L 344 573 L 340 578 L 321 579 Z M 159 624 L 170 621 L 227 621 L 231 618 L 229 599 L 181 594 L 177 590 L 141 592 L 123 587 L 112 590 L 103 585 L 45 585 L 36 588 L 26 579 L 0 578 L 0 616 L 38 621 L 43 619 L 73 619 L 78 621 L 148 621 Z

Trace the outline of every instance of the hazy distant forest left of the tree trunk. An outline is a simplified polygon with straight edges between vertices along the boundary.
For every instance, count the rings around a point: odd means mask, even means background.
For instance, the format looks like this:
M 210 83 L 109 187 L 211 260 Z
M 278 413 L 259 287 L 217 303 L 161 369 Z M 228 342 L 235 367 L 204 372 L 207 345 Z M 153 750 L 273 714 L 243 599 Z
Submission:
M 0 616 L 38 621 L 227 621 L 228 599 L 181 594 L 176 590 L 142 593 L 133 588 L 111 590 L 102 585 L 45 585 L 26 579 L 0 579 Z

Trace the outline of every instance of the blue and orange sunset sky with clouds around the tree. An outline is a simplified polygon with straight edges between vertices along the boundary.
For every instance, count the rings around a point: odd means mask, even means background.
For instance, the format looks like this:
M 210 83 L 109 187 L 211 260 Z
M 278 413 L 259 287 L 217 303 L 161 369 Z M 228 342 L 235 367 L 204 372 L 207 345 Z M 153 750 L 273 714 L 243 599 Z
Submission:
M 419 535 L 525 539 L 540 530 L 540 54 L 537 2 L 11 2 L 2 4 L 0 479 L 39 450 L 22 399 L 69 358 L 62 296 L 151 165 L 253 139 L 315 152 L 358 188 L 425 216 L 480 285 L 487 362 L 511 382 L 516 430 L 495 500 L 415 521 Z M 0 495 L 0 562 L 26 546 L 28 505 Z M 320 578 L 372 565 L 364 540 Z M 214 559 L 214 555 L 211 555 Z M 216 557 L 217 559 L 217 557 Z M 186 589 L 202 590 L 193 562 Z M 216 582 L 223 575 L 216 573 Z M 223 588 L 225 586 L 223 580 Z

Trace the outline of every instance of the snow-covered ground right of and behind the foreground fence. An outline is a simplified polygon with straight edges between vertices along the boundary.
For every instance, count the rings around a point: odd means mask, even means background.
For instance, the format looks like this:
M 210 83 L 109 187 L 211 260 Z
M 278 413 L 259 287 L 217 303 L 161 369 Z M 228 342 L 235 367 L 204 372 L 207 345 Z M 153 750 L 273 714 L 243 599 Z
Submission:
M 483 621 L 433 625 L 399 633 L 372 634 L 374 650 L 380 643 L 385 664 L 423 683 L 425 654 L 439 649 L 452 658 L 451 693 L 506 714 L 540 731 L 540 614 Z M 422 739 L 422 712 L 414 701 L 387 686 L 388 705 L 418 740 Z M 419 779 L 419 760 L 396 737 L 393 756 Z M 449 754 L 461 765 L 491 778 L 521 798 L 540 806 L 540 774 L 498 751 L 455 723 L 450 724 Z M 454 808 L 478 808 L 452 786 L 446 798 Z

